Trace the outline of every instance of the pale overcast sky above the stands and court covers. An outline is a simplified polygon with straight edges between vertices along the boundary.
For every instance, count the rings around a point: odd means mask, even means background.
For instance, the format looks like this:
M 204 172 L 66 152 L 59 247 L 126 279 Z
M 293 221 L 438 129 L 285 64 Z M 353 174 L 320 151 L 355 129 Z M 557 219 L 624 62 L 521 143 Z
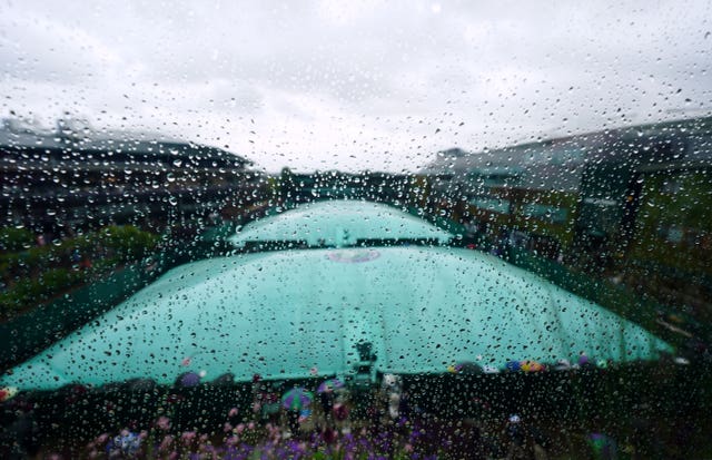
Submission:
M 0 116 L 69 112 L 269 172 L 415 170 L 711 115 L 711 4 L 3 1 Z

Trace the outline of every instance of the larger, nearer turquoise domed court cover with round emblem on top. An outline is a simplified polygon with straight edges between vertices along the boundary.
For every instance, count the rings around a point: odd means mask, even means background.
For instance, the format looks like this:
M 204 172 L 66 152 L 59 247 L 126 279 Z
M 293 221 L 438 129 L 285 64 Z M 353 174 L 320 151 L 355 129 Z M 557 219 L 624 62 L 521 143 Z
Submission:
M 238 381 L 374 371 L 439 373 L 462 361 L 652 360 L 670 346 L 528 272 L 449 247 L 322 248 L 189 263 L 6 374 L 52 389 L 187 371 Z

